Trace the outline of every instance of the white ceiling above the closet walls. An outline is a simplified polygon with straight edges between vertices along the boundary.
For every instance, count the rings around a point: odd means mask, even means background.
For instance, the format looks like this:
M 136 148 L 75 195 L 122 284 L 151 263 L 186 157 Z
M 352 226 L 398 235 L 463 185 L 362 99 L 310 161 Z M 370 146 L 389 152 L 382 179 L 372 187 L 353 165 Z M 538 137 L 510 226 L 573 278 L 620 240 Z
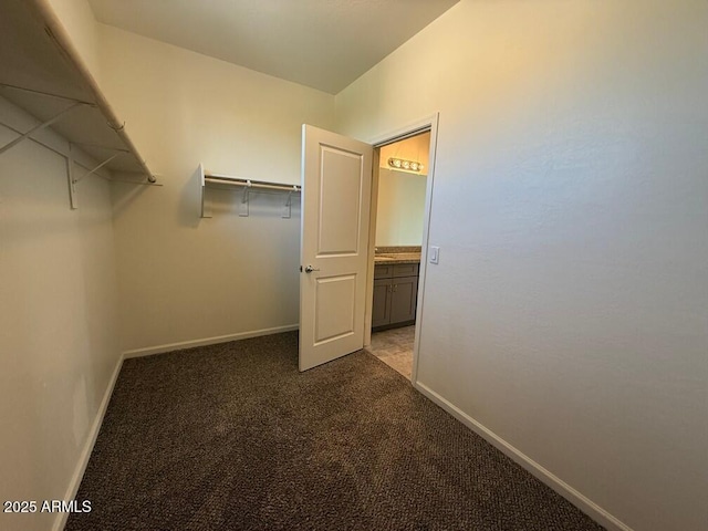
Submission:
M 105 24 L 336 94 L 459 0 L 90 0 Z

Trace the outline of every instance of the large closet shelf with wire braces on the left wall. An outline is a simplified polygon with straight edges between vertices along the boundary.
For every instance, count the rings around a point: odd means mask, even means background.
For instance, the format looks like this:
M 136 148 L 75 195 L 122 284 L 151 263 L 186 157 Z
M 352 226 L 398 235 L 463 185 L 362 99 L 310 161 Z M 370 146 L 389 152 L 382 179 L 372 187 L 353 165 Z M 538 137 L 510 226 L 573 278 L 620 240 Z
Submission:
M 0 3 L 0 96 L 38 121 L 22 129 L 0 116 L 0 125 L 15 135 L 0 145 L 0 156 L 31 140 L 87 170 L 76 176 L 73 164 L 67 164 L 72 208 L 76 208 L 75 185 L 91 174 L 107 174 L 110 179 L 113 171 L 139 174 L 135 184 L 155 184 L 125 123 L 115 115 L 48 0 Z M 67 145 L 46 142 L 42 131 L 50 127 Z M 75 160 L 80 152 L 93 160 L 86 162 L 83 155 Z

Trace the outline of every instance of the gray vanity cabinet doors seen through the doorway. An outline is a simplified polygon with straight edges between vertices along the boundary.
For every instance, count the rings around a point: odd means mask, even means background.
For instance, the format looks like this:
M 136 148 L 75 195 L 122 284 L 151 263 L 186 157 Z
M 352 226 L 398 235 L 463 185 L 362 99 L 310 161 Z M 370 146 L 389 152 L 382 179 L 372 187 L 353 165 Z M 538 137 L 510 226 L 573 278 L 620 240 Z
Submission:
M 374 269 L 372 327 L 415 323 L 418 300 L 418 264 L 378 264 Z

